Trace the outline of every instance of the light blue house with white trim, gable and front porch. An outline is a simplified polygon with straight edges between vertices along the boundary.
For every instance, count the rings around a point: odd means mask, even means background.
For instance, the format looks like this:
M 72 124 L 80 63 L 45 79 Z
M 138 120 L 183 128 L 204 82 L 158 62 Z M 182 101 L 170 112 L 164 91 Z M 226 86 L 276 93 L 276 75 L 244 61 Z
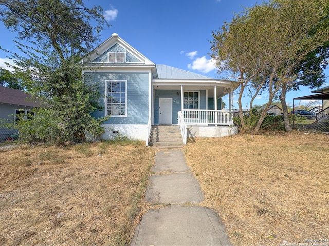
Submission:
M 93 116 L 111 114 L 104 122 L 104 139 L 120 134 L 148 145 L 152 126 L 161 124 L 179 125 L 185 142 L 188 136 L 236 132 L 232 113 L 222 110 L 221 99 L 229 94 L 231 109 L 234 81 L 155 65 L 116 33 L 83 63 L 86 83 L 96 83 L 105 98 L 100 102 L 104 110 Z

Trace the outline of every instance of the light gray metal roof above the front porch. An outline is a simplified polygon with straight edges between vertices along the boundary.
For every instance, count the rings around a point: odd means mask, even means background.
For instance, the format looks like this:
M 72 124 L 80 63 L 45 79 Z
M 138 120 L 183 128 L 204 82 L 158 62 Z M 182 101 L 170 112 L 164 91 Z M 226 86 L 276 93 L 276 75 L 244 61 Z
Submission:
M 173 68 L 167 65 L 156 65 L 158 78 L 162 79 L 213 79 L 197 73 L 185 71 L 179 68 Z

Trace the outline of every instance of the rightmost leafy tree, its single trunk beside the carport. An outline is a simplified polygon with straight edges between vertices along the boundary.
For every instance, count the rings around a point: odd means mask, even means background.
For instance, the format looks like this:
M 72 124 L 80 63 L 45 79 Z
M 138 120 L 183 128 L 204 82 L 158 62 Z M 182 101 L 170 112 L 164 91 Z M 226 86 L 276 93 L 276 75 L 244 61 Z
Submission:
M 327 25 L 323 25 L 328 18 L 328 2 L 278 0 L 277 7 L 282 23 L 278 33 L 287 47 L 280 53 L 282 60 L 277 74 L 278 82 L 281 83 L 279 98 L 285 130 L 291 131 L 286 92 L 296 90 L 301 85 L 315 88 L 324 83 L 323 61 L 328 57 L 326 43 L 329 32 Z

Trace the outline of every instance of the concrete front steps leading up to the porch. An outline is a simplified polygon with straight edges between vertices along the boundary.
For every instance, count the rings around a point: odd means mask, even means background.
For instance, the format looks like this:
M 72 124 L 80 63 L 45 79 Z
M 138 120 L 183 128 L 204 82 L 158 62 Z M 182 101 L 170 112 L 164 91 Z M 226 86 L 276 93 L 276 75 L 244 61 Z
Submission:
M 178 126 L 154 126 L 151 131 L 149 145 L 154 148 L 179 148 L 184 146 Z

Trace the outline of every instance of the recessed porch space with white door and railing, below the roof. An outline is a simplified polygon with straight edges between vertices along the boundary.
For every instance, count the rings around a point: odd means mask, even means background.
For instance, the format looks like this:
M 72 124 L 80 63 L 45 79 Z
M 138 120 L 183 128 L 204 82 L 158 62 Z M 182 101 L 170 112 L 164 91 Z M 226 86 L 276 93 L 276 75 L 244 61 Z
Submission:
M 152 125 L 178 124 L 177 113 L 182 112 L 188 125 L 233 125 L 233 91 L 218 86 L 176 86 L 168 89 L 156 86 L 152 93 Z M 228 95 L 228 110 L 223 110 L 222 97 Z

